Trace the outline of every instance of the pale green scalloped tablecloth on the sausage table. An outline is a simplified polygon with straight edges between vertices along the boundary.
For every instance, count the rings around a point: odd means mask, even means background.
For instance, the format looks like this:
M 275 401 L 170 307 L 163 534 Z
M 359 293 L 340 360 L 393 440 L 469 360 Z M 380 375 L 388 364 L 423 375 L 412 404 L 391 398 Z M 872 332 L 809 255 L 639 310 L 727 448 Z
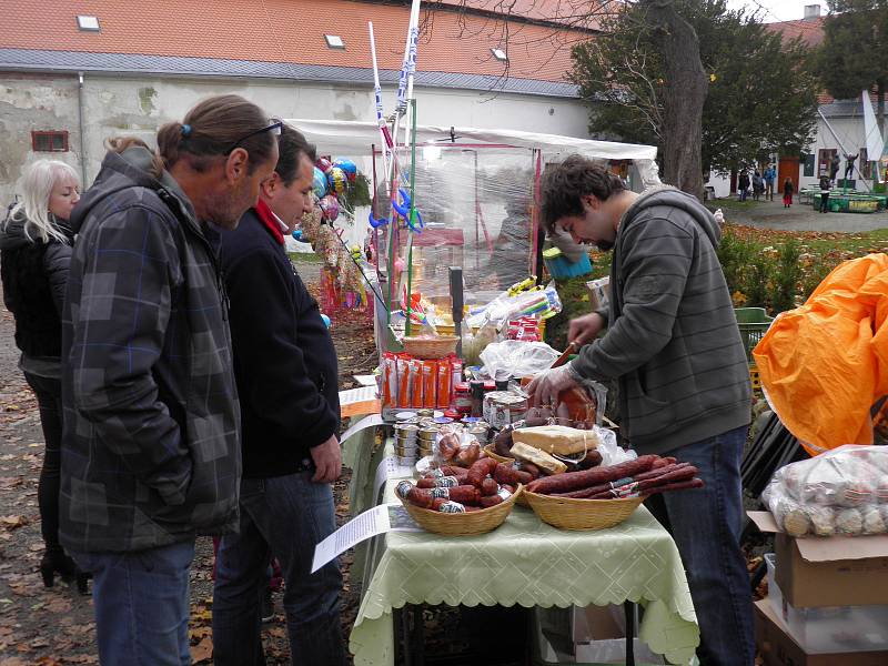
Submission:
M 386 482 L 386 502 L 394 501 L 396 483 Z M 390 532 L 382 538 L 350 638 L 356 666 L 394 663 L 392 609 L 405 604 L 566 607 L 628 599 L 645 607 L 638 637 L 669 662 L 689 663 L 699 642 L 678 551 L 644 507 L 597 532 L 556 529 L 516 506 L 502 526 L 480 536 Z

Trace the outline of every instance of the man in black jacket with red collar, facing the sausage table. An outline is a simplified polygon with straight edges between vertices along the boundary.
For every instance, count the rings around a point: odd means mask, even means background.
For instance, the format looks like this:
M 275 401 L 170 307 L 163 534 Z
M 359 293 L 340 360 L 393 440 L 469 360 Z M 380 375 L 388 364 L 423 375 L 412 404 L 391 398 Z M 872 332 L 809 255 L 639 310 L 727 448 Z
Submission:
M 311 212 L 314 147 L 283 127 L 275 173 L 234 233 L 221 234 L 231 297 L 234 374 L 243 424 L 238 534 L 222 538 L 213 594 L 213 663 L 264 664 L 260 599 L 270 556 L 281 563 L 293 664 L 345 664 L 342 576 L 311 573 L 314 546 L 335 528 L 341 453 L 336 351 L 317 303 L 284 251 Z

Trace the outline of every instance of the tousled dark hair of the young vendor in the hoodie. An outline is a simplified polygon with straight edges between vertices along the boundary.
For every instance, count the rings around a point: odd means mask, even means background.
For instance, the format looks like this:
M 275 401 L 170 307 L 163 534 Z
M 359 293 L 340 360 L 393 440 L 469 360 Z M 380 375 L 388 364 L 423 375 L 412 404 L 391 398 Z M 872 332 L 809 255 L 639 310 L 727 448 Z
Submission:
M 601 164 L 582 155 L 571 155 L 561 164 L 548 167 L 543 174 L 543 225 L 552 233 L 555 222 L 565 216 L 582 215 L 581 196 L 592 194 L 601 201 L 614 192 L 626 190 L 623 180 Z

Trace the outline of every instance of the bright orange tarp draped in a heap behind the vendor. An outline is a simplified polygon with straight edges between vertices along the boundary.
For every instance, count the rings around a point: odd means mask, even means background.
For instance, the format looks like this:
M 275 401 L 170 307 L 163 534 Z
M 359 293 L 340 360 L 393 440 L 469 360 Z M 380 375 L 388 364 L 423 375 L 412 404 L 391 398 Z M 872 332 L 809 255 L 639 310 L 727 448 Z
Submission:
M 774 321 L 753 357 L 768 402 L 808 453 L 871 444 L 869 412 L 888 393 L 888 254 L 838 265 Z

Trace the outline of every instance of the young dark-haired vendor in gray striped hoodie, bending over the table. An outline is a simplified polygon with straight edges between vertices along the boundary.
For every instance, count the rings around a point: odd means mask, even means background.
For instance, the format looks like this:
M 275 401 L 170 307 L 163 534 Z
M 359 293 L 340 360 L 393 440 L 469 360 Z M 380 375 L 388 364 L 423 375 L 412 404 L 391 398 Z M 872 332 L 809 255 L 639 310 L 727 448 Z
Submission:
M 528 391 L 551 403 L 583 380 L 617 380 L 620 428 L 633 448 L 698 467 L 704 488 L 663 495 L 700 625 L 698 654 L 703 664 L 749 666 L 739 464 L 750 385 L 716 256 L 718 224 L 693 196 L 672 188 L 636 194 L 578 155 L 547 170 L 543 219 L 577 242 L 614 249 L 610 303 L 571 322 L 568 340 L 589 344 Z

